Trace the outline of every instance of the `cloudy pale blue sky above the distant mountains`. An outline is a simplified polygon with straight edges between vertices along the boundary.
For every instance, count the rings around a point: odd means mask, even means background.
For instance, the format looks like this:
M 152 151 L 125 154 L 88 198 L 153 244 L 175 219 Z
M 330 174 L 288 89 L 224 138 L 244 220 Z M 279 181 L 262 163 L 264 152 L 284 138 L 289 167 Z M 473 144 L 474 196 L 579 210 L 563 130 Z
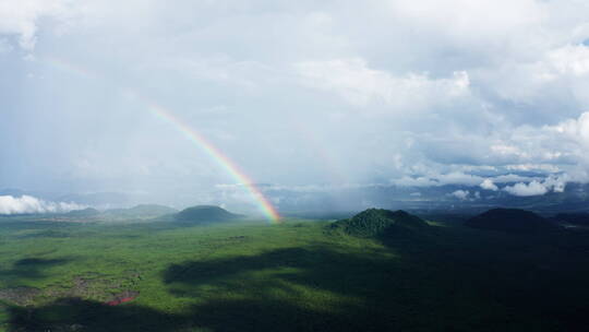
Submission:
M 261 191 L 558 192 L 589 180 L 589 2 L 0 0 L 0 188 L 252 200 L 154 107 Z

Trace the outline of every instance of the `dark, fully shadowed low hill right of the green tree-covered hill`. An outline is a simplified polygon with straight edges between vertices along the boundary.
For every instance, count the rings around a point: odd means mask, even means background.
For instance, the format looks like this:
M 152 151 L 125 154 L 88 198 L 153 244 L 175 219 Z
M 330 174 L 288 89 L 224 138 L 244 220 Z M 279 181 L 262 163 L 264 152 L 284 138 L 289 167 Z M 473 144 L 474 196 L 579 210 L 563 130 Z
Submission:
M 519 209 L 493 209 L 471 217 L 466 225 L 473 228 L 507 233 L 554 232 L 560 227 L 538 214 Z

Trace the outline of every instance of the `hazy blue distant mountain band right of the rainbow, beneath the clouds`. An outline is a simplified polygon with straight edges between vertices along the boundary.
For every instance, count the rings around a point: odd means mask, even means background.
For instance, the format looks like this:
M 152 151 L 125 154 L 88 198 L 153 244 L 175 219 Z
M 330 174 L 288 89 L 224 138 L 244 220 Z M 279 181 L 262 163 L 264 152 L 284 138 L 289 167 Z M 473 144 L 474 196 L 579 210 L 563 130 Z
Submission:
M 502 183 L 513 186 L 515 182 Z M 567 183 L 563 192 L 550 191 L 542 195 L 517 197 L 504 190 L 485 190 L 479 186 L 444 185 L 433 187 L 365 186 L 338 189 L 288 190 L 268 189 L 278 198 L 278 209 L 286 214 L 325 211 L 362 211 L 371 206 L 408 211 L 456 211 L 480 213 L 492 208 L 518 208 L 555 214 L 558 212 L 589 212 L 589 185 Z M 459 192 L 461 194 L 457 195 Z

